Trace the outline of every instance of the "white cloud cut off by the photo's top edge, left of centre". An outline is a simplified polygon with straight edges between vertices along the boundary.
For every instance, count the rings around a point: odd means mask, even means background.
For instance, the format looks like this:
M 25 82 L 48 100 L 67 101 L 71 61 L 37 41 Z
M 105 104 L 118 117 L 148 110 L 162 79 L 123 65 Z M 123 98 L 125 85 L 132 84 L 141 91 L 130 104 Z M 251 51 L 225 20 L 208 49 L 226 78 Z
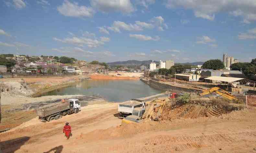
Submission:
M 130 0 L 90 0 L 91 6 L 98 10 L 109 13 L 109 12 L 122 12 L 132 13 L 135 11 L 134 6 Z

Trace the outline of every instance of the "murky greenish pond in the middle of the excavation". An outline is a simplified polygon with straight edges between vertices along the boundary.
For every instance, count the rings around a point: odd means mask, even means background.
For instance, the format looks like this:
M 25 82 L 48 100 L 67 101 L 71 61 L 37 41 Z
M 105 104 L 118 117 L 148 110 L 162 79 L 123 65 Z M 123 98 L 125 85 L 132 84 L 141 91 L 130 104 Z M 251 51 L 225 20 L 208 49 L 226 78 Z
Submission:
M 109 102 L 123 102 L 131 98 L 156 95 L 163 90 L 149 87 L 140 80 L 86 80 L 56 89 L 41 96 L 52 95 L 97 95 Z

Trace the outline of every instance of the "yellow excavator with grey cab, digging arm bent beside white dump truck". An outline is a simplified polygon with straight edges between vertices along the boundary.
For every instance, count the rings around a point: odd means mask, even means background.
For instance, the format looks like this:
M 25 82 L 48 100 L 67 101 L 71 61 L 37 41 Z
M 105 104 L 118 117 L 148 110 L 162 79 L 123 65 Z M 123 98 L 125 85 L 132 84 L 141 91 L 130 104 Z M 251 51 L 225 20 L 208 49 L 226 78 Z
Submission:
M 141 123 L 149 119 L 159 121 L 165 104 L 166 104 L 165 99 L 163 100 L 155 99 L 155 100 L 152 100 L 146 106 L 146 108 L 134 108 L 132 115 L 129 115 L 124 119 L 122 119 L 122 125 L 129 124 L 129 123 Z M 158 109 L 157 117 L 153 119 L 153 112 L 156 109 Z

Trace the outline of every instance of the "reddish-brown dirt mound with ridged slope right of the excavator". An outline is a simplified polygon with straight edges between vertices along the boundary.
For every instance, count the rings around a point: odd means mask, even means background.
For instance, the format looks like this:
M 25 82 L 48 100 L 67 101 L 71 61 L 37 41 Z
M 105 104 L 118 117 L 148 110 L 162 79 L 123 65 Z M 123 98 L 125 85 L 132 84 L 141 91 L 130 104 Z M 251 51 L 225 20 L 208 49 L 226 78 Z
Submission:
M 162 119 L 217 117 L 239 109 L 232 105 L 216 105 L 213 102 L 169 102 L 163 110 Z

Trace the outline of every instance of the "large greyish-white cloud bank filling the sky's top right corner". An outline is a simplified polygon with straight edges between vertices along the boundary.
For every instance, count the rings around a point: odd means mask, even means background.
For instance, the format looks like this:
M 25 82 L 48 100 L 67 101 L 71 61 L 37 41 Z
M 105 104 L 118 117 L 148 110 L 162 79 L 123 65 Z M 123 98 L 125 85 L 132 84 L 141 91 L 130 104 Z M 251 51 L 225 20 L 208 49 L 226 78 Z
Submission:
M 244 23 L 256 21 L 255 0 L 167 0 L 167 8 L 193 10 L 196 17 L 214 20 L 215 14 L 226 12 L 243 17 Z

